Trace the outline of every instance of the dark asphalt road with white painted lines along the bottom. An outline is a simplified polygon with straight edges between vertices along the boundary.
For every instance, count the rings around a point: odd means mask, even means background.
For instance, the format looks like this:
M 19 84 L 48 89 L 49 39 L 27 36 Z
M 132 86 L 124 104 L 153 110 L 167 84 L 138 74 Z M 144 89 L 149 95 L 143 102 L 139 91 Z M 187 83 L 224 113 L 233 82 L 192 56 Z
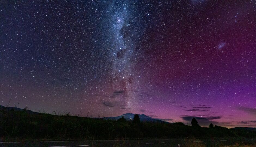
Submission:
M 110 140 L 110 141 L 46 141 L 46 142 L 0 142 L 0 147 L 178 147 L 185 142 L 202 143 L 206 146 L 223 145 L 231 147 L 236 143 L 255 143 L 251 138 L 215 138 L 215 139 L 152 139 L 152 140 Z

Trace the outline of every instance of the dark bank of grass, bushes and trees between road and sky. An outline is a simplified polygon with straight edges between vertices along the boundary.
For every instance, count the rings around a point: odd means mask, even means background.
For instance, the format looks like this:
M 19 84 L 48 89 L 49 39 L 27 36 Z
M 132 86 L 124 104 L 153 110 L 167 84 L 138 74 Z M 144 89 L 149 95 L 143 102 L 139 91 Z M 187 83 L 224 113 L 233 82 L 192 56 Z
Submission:
M 210 128 L 203 128 L 195 119 L 191 123 L 192 126 L 183 123 L 141 122 L 137 115 L 133 121 L 127 121 L 123 117 L 119 120 L 104 120 L 1 109 L 0 137 L 2 140 L 123 139 L 125 134 L 127 139 L 256 137 L 256 131 L 212 125 Z

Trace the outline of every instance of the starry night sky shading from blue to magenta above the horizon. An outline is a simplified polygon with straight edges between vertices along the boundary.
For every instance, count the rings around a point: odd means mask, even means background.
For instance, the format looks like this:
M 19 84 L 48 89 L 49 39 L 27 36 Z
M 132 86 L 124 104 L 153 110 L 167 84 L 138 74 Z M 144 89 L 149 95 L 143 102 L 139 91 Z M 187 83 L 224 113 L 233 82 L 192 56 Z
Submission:
M 256 126 L 256 1 L 0 2 L 0 105 Z

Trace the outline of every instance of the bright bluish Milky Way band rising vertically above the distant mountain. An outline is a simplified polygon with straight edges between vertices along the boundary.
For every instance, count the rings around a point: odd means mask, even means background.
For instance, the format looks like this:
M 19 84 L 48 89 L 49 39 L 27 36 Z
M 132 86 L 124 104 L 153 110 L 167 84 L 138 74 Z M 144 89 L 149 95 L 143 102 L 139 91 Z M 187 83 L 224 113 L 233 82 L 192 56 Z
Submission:
M 111 4 L 109 11 L 111 14 L 111 26 L 110 30 L 112 33 L 112 45 L 110 47 L 113 50 L 112 59 L 112 78 L 114 81 L 114 89 L 116 90 L 115 95 L 124 97 L 124 106 L 130 108 L 132 106 L 132 71 L 131 64 L 134 50 L 134 35 L 131 34 L 132 21 L 130 11 L 132 6 L 127 2 L 114 2 Z M 135 31 L 135 30 L 133 30 Z

